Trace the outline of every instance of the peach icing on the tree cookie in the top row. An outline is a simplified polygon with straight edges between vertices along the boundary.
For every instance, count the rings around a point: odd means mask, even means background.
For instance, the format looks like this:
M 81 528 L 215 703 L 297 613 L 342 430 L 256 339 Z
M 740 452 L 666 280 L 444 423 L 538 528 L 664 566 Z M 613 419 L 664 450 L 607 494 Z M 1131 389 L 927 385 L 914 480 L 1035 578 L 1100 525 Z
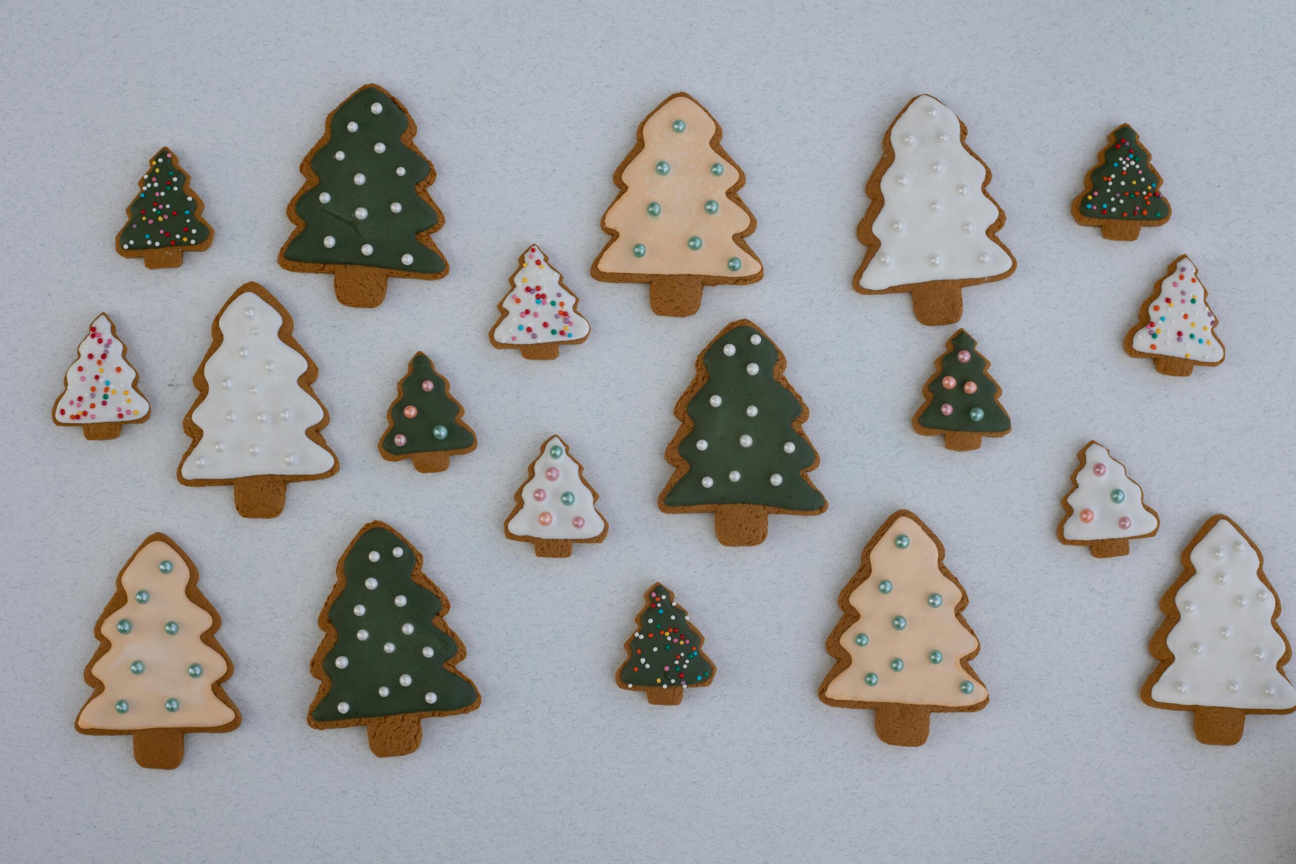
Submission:
M 674 124 L 683 120 L 684 130 Z M 734 236 L 752 224 L 752 218 L 726 193 L 739 180 L 739 170 L 712 149 L 715 122 L 701 105 L 677 96 L 644 120 L 644 148 L 621 172 L 626 190 L 612 202 L 603 222 L 618 237 L 599 256 L 595 267 L 607 273 L 679 273 L 744 277 L 761 272 L 761 262 L 734 242 Z M 670 166 L 658 174 L 657 163 Z M 723 171 L 713 174 L 713 166 Z M 715 212 L 706 211 L 714 201 Z M 649 215 L 656 203 L 661 212 Z M 689 249 L 691 237 L 702 241 Z M 644 246 L 636 256 L 636 245 Z M 728 262 L 737 258 L 739 268 Z

